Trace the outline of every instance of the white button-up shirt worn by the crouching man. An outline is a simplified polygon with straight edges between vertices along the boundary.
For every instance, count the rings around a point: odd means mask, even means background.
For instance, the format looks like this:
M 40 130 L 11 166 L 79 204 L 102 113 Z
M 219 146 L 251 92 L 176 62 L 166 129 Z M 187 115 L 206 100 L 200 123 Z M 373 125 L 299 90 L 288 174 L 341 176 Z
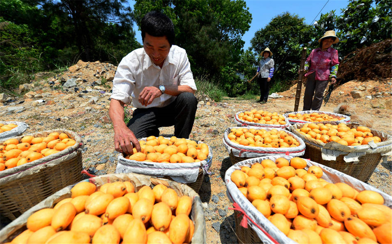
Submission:
M 163 94 L 147 106 L 138 101 L 144 87 L 159 85 L 188 85 L 197 90 L 185 49 L 172 45 L 162 69 L 151 61 L 143 48 L 130 52 L 117 67 L 110 98 L 129 103 L 132 97 L 132 105 L 136 108 L 165 107 L 176 97 Z

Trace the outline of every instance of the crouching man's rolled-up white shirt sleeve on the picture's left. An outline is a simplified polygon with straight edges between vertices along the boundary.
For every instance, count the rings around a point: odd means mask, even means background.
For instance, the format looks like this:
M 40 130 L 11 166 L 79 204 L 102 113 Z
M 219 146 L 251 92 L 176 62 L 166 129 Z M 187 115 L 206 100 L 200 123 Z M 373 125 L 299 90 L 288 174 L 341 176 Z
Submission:
M 113 93 L 110 98 L 129 103 L 130 96 L 135 88 L 135 79 L 129 68 L 129 62 L 126 57 L 123 58 L 117 67 L 116 74 L 113 79 Z

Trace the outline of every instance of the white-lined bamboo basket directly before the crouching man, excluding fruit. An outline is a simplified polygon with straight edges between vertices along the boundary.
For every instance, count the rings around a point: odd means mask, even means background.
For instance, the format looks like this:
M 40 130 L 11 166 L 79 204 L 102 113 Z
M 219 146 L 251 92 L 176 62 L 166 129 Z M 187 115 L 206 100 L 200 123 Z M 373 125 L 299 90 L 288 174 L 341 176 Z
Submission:
M 166 137 L 167 138 L 167 137 Z M 145 140 L 146 138 L 142 138 L 141 140 Z M 170 139 L 170 138 L 167 138 Z M 119 154 L 117 157 L 117 168 L 116 173 L 129 173 L 134 172 L 137 174 L 145 174 L 156 176 L 164 179 L 173 180 L 176 182 L 187 184 L 191 187 L 195 192 L 199 192 L 201 184 L 203 183 L 204 175 L 209 174 L 208 169 L 212 163 L 212 151 L 209 148 L 209 155 L 207 155 L 207 159 L 198 162 L 198 163 L 154 163 L 154 162 L 138 162 L 134 160 L 125 159 L 122 154 Z M 185 172 L 185 170 L 189 170 L 192 168 L 196 170 L 197 168 L 197 177 L 194 178 L 192 182 L 182 181 L 183 178 L 180 175 L 176 175 L 179 171 Z M 186 173 L 184 173 L 186 174 Z

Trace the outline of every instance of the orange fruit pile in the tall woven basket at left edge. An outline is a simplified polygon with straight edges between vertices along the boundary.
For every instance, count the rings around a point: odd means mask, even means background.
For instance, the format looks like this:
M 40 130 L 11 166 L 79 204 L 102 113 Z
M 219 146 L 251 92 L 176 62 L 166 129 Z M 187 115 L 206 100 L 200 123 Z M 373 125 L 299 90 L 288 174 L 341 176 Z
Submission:
M 20 141 L 7 139 L 0 145 L 0 171 L 55 154 L 75 143 L 67 134 L 58 132 L 47 137 L 24 136 Z

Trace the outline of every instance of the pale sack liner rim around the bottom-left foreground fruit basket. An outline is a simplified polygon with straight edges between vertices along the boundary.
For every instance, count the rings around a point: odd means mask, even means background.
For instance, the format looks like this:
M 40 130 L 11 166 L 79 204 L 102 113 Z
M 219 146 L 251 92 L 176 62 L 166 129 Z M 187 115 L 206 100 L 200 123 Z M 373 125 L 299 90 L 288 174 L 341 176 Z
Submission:
M 191 219 L 195 223 L 194 235 L 191 243 L 207 243 L 207 234 L 205 228 L 205 219 L 203 206 L 201 205 L 200 196 L 192 190 L 192 188 L 176 183 L 173 181 L 163 180 L 163 179 L 151 179 L 150 176 L 147 175 L 139 175 L 139 174 L 107 174 L 100 175 L 97 177 L 93 177 L 90 179 L 86 179 L 84 181 L 89 181 L 91 183 L 96 184 L 97 186 L 101 186 L 105 183 L 115 182 L 115 181 L 131 181 L 135 189 L 140 189 L 142 186 L 147 185 L 151 186 L 152 184 L 165 184 L 168 187 L 174 189 L 178 195 L 188 195 L 192 198 L 192 210 L 191 210 Z M 40 203 L 36 204 L 34 207 L 27 210 L 24 214 L 18 217 L 15 221 L 11 222 L 7 226 L 5 226 L 0 231 L 0 242 L 10 242 L 17 235 L 22 233 L 25 228 L 25 224 L 27 222 L 27 218 L 33 214 L 34 212 L 42 209 L 42 208 L 52 208 L 54 204 L 61 201 L 62 199 L 71 197 L 71 188 L 74 186 L 70 185 L 62 190 L 55 192 L 53 195 L 47 197 Z

